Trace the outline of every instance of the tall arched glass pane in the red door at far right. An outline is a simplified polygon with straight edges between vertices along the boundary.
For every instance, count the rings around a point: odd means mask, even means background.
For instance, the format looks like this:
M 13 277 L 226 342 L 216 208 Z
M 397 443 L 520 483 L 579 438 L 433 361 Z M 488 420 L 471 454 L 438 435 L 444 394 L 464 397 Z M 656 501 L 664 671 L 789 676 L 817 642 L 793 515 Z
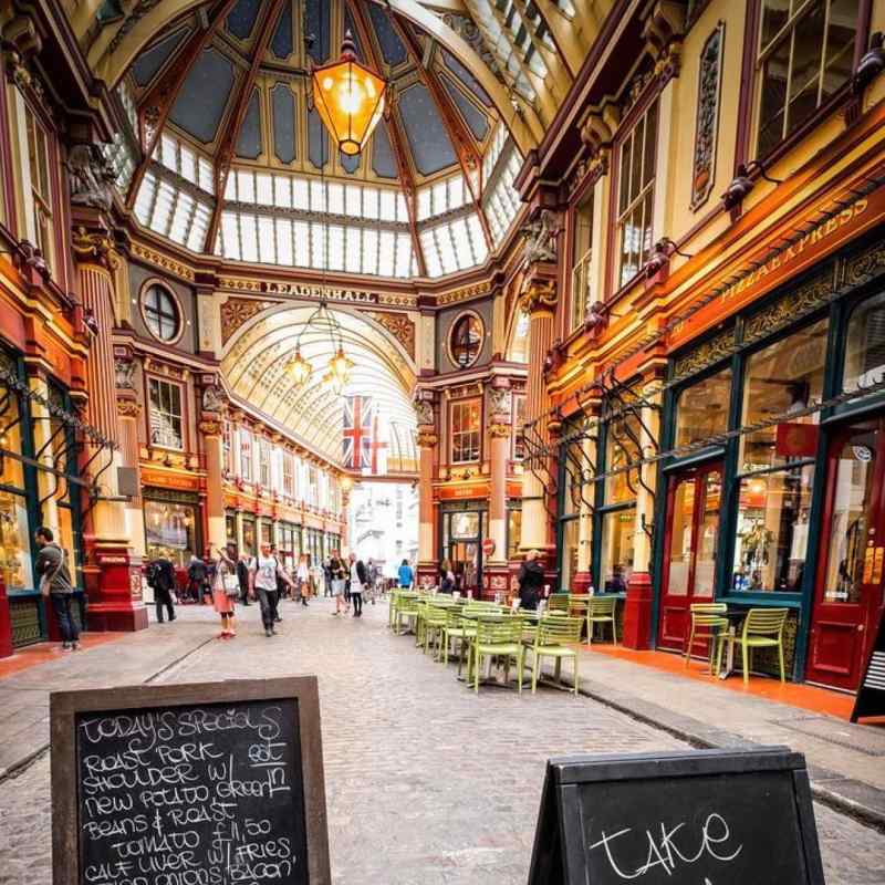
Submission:
M 858 429 L 845 442 L 836 461 L 824 602 L 860 603 L 863 584 L 871 582 L 873 561 L 867 565 L 866 556 L 872 556 L 875 550 L 872 540 L 867 546 L 867 537 L 874 504 L 877 436 L 876 430 Z

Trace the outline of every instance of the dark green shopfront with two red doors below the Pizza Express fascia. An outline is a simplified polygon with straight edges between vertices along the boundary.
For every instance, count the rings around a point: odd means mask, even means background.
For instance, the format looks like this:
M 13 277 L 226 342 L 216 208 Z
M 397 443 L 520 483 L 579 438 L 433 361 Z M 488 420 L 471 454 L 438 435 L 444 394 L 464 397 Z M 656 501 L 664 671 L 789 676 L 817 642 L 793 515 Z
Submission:
M 684 650 L 694 603 L 785 608 L 793 678 L 855 689 L 884 602 L 885 252 L 876 240 L 677 352 L 663 427 L 671 455 L 657 487 L 658 647 Z

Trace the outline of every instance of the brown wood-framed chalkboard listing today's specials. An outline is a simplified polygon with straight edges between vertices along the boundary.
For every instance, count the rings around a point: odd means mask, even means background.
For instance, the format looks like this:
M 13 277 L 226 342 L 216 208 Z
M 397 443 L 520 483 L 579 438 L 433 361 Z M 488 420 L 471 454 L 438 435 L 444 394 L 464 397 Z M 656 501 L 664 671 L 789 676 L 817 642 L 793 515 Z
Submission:
M 330 885 L 316 677 L 50 696 L 53 885 Z

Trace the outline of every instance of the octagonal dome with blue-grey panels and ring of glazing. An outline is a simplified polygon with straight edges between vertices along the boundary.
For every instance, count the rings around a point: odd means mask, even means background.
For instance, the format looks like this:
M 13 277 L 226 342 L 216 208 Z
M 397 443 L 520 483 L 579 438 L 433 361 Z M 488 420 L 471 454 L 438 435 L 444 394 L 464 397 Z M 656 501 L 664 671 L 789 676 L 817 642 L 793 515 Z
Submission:
M 309 103 L 311 65 L 346 30 L 394 96 L 357 157 L 333 154 Z M 135 58 L 121 92 L 149 154 L 129 173 L 135 217 L 194 252 L 438 278 L 485 263 L 518 215 L 508 122 L 392 6 L 207 3 Z

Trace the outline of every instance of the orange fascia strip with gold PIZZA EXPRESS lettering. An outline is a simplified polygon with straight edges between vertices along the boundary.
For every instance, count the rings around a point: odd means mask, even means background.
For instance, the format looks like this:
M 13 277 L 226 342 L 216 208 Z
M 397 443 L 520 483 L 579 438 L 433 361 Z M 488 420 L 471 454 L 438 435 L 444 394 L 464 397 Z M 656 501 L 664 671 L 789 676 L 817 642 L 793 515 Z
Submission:
M 820 212 L 816 211 L 815 215 Z M 885 217 L 885 187 L 860 197 L 842 211 L 815 225 L 800 240 L 748 271 L 743 277 L 674 325 L 668 337 L 669 350 L 676 350 L 701 332 L 750 304 L 760 295 L 820 261 L 845 242 L 854 239 Z M 770 247 L 767 251 L 770 251 Z

